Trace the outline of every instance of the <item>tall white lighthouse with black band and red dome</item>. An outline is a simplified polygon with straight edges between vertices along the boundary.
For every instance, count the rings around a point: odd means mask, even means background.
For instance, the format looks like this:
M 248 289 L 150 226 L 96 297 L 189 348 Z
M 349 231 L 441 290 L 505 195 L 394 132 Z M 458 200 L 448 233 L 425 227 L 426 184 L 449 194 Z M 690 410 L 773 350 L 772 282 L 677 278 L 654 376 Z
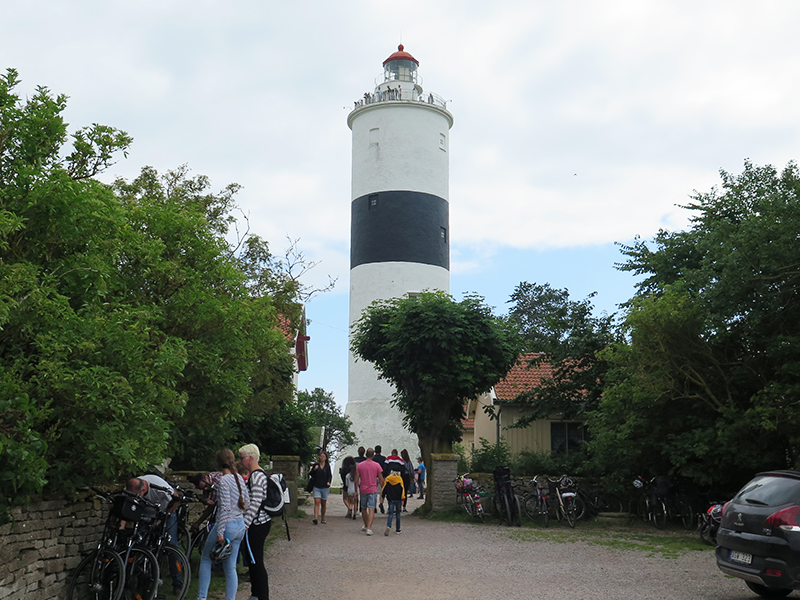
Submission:
M 352 130 L 350 326 L 375 300 L 450 291 L 449 152 L 453 117 L 422 88 L 419 61 L 402 45 L 374 89 L 355 102 Z M 345 414 L 360 444 L 419 453 L 390 405 L 394 389 L 371 363 L 348 365 Z M 345 449 L 354 454 L 354 449 Z M 345 455 L 346 455 L 345 454 Z

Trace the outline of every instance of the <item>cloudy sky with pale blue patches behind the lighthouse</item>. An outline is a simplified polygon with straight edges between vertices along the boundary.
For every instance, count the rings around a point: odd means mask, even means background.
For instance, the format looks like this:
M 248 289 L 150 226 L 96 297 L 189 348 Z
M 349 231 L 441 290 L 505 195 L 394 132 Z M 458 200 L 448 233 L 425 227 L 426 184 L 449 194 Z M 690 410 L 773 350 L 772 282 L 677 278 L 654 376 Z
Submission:
M 300 387 L 347 398 L 350 130 L 399 43 L 449 100 L 452 293 L 505 312 L 521 281 L 597 291 L 633 279 L 614 242 L 686 226 L 693 190 L 800 143 L 800 3 L 0 2 L 0 60 L 29 95 L 70 97 L 71 129 L 134 138 L 107 178 L 188 164 L 280 252 L 299 238 L 338 277 L 307 307 Z

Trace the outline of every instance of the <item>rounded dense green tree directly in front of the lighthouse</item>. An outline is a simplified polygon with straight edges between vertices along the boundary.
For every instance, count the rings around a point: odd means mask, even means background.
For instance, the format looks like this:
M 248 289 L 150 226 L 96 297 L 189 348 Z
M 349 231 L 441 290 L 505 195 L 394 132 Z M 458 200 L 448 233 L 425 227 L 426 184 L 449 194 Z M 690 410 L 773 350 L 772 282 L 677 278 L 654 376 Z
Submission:
M 461 439 L 464 401 L 491 389 L 517 359 L 519 336 L 479 296 L 444 292 L 374 302 L 353 326 L 352 351 L 395 388 L 392 404 L 422 456 Z M 430 507 L 428 494 L 426 507 Z

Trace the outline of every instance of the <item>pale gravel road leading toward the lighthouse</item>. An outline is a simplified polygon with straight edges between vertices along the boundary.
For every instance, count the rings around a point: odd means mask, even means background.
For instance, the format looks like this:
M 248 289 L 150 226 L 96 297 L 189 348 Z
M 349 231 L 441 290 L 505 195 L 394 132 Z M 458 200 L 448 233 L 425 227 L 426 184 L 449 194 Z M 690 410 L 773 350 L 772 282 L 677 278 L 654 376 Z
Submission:
M 409 510 L 421 501 L 413 503 Z M 290 519 L 291 542 L 282 521 L 273 527 L 270 537 L 278 541 L 267 551 L 272 600 L 757 598 L 717 569 L 710 549 L 668 558 L 570 541 L 566 529 L 561 543 L 530 541 L 519 529 L 405 514 L 401 535 L 385 537 L 385 516 L 378 514 L 369 537 L 360 519 L 344 518 L 340 497 L 331 496 L 329 504 L 326 525 L 313 525 L 310 515 Z M 412 588 L 410 581 L 418 584 Z M 243 583 L 236 598 L 249 597 Z

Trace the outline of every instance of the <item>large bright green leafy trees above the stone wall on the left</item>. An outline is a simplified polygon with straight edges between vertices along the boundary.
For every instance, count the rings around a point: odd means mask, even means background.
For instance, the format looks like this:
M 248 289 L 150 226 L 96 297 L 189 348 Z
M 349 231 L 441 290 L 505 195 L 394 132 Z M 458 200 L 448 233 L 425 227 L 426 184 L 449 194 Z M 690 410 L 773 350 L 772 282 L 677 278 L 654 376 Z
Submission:
M 215 446 L 249 403 L 291 397 L 278 313 L 299 317 L 270 293 L 291 278 L 251 268 L 265 244 L 226 242 L 238 186 L 151 168 L 105 185 L 131 138 L 67 144 L 66 98 L 17 84 L 0 76 L 0 508 Z

